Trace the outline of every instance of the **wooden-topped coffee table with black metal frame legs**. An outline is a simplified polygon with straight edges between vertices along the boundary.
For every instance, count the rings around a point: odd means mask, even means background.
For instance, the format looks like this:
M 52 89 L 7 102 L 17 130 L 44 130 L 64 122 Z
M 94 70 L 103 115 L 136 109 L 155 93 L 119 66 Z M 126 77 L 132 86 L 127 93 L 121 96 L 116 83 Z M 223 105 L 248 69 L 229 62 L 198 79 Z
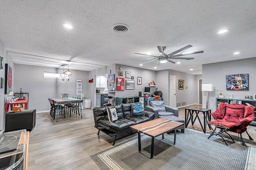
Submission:
M 164 133 L 174 130 L 174 143 L 173 144 L 175 144 L 176 128 L 178 128 L 182 125 L 184 125 L 184 123 L 181 123 L 178 121 L 171 121 L 171 120 L 163 119 L 163 118 L 158 118 L 158 119 L 154 119 L 154 120 L 147 121 L 144 123 L 140 123 L 138 125 L 130 126 L 130 128 L 138 131 L 138 146 L 139 146 L 139 152 L 141 154 L 143 154 L 143 153 L 141 151 L 140 133 L 143 133 L 145 135 L 152 137 L 150 157 L 148 157 L 148 156 L 147 157 L 153 158 L 155 137 L 162 135 L 162 139 L 164 139 Z

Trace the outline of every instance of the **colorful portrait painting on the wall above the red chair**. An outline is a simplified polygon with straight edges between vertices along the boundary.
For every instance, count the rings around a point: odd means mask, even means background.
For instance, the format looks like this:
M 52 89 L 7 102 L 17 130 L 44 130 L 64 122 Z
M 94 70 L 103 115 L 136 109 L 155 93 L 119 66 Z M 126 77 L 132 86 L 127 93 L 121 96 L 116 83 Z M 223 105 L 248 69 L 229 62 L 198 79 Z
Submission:
M 231 74 L 226 75 L 227 90 L 249 90 L 248 74 Z

